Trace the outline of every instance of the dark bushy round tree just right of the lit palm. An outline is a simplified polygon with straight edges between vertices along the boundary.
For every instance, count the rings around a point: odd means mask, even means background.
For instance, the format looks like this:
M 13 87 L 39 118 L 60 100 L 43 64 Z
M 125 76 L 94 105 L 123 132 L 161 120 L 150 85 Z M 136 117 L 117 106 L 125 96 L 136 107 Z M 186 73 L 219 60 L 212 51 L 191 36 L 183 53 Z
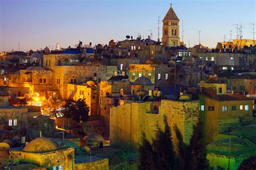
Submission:
M 63 115 L 77 122 L 80 121 L 81 117 L 83 122 L 85 122 L 89 115 L 89 107 L 84 100 L 85 99 L 79 99 L 77 101 L 72 99 L 66 100 L 63 106 Z

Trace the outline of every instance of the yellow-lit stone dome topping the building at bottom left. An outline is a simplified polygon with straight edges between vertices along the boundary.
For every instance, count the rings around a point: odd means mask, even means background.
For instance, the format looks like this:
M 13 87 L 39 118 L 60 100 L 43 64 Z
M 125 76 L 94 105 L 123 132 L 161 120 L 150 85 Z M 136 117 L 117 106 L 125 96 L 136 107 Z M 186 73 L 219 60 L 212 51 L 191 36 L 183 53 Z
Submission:
M 47 152 L 57 150 L 58 145 L 54 143 L 51 139 L 39 137 L 36 138 L 30 143 L 28 143 L 24 148 L 23 151 L 26 152 Z

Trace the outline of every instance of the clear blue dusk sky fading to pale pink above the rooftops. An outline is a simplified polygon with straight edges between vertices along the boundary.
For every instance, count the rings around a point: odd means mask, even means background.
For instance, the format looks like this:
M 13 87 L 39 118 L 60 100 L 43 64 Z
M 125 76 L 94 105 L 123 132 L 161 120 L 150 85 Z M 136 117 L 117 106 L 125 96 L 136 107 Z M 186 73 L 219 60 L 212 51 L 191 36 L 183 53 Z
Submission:
M 255 0 L 0 0 L 0 51 L 54 49 L 83 44 L 108 44 L 127 35 L 145 38 L 152 30 L 158 38 L 158 17 L 164 18 L 170 3 L 182 20 L 188 46 L 215 47 L 217 42 L 235 39 L 234 24 L 242 24 L 243 38 L 253 39 Z M 160 22 L 160 38 L 161 26 Z M 256 25 L 254 26 L 256 32 Z

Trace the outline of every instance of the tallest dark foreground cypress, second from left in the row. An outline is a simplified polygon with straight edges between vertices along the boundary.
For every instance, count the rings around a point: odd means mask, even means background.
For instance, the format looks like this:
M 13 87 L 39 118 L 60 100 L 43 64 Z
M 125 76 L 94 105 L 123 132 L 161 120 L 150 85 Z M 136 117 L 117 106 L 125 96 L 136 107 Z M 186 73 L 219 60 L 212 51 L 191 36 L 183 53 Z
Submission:
M 173 148 L 171 128 L 167 123 L 167 117 L 164 116 L 165 129 L 162 131 L 158 126 L 156 139 L 153 139 L 154 168 L 156 169 L 175 169 L 176 156 Z

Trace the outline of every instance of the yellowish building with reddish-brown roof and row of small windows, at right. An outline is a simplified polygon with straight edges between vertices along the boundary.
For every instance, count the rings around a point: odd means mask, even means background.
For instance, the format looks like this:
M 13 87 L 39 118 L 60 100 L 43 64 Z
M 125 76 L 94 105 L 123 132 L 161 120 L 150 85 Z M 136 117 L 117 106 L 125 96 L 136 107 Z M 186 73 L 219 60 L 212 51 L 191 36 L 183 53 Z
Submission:
M 207 143 L 222 138 L 230 130 L 253 123 L 252 98 L 238 94 L 217 95 L 213 89 L 206 88 L 199 100 Z

